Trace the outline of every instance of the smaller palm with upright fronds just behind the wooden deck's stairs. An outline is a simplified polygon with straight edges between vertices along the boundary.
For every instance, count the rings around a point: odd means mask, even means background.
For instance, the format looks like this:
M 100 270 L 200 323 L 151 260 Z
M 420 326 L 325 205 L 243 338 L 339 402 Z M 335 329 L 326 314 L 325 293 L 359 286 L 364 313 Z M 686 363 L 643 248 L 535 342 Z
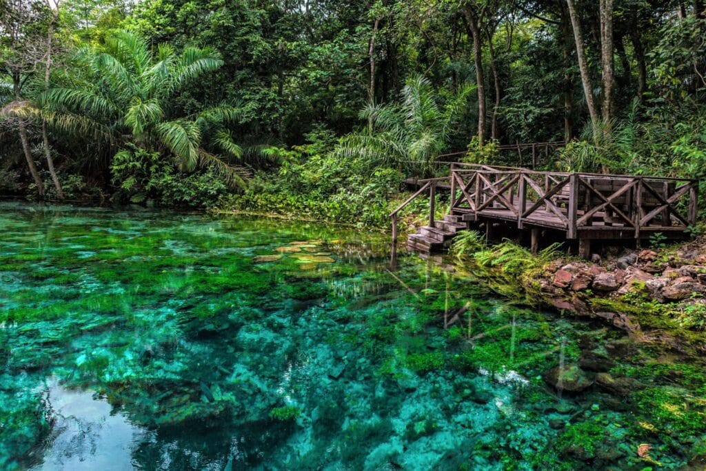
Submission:
M 372 165 L 421 165 L 422 172 L 429 172 L 430 163 L 444 150 L 450 131 L 462 117 L 470 93 L 472 88 L 466 85 L 440 105 L 426 78 L 409 78 L 402 89 L 402 103 L 369 104 L 360 114 L 369 126 L 342 138 L 335 153 Z

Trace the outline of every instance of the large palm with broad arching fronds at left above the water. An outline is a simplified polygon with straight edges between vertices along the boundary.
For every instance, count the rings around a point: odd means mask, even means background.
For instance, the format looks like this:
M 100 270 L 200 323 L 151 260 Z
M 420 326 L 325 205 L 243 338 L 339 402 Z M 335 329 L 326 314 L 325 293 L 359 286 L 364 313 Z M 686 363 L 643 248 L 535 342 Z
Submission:
M 143 38 L 115 32 L 103 47 L 79 49 L 73 61 L 32 103 L 55 130 L 100 136 L 114 152 L 126 143 L 159 150 L 184 171 L 215 167 L 232 184 L 243 183 L 246 169 L 227 160 L 242 155 L 225 130 L 236 110 L 220 105 L 179 116 L 169 106 L 184 86 L 222 66 L 214 49 L 177 54 L 162 44 L 152 54 Z

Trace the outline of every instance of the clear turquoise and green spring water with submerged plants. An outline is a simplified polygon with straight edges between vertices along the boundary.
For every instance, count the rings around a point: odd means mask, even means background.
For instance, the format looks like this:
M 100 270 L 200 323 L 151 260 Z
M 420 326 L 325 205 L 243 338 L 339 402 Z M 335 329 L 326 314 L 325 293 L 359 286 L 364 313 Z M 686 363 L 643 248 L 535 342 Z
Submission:
M 324 225 L 2 203 L 0 469 L 703 469 L 698 355 L 447 270 Z M 544 381 L 582 357 L 617 386 Z

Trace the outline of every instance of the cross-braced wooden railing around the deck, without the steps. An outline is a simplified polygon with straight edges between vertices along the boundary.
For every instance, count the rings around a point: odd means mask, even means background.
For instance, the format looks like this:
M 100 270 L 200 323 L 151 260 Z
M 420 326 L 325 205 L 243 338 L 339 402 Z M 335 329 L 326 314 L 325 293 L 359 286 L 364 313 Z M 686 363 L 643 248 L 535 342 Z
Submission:
M 698 181 L 452 165 L 451 210 L 579 232 L 683 231 L 696 222 Z

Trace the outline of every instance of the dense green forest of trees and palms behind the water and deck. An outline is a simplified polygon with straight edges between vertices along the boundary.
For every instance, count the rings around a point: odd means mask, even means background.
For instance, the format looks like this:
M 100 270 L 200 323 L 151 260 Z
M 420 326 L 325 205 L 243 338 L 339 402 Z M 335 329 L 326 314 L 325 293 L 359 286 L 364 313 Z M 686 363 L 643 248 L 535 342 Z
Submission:
M 467 148 L 701 178 L 705 38 L 702 1 L 0 0 L 0 191 L 378 224 Z

